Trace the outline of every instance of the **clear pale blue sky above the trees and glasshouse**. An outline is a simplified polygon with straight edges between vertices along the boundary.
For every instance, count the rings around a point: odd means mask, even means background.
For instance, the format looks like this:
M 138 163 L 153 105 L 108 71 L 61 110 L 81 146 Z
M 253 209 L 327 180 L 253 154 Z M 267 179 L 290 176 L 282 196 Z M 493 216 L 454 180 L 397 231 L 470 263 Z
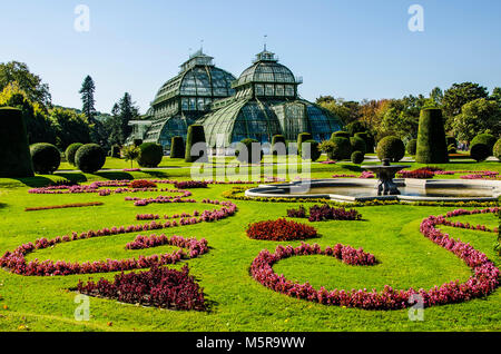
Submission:
M 499 0 L 0 0 L 0 62 L 27 62 L 57 105 L 80 107 L 86 75 L 97 109 L 125 91 L 145 112 L 157 89 L 200 46 L 238 77 L 263 48 L 296 76 L 301 95 L 345 99 L 428 94 L 474 81 L 501 86 Z M 78 4 L 90 31 L 73 29 Z M 424 31 L 411 32 L 411 4 Z M 6 16 L 9 13 L 10 16 Z

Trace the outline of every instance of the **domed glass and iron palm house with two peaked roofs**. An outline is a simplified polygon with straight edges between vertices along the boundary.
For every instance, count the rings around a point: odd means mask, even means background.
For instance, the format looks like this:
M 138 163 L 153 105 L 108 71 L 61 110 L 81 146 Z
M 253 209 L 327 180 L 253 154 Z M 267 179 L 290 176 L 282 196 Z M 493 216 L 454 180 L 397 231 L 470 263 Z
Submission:
M 301 132 L 326 140 L 343 128 L 343 122 L 301 98 L 297 89 L 302 82 L 266 48 L 238 79 L 198 51 L 160 88 L 145 119 L 131 122 L 129 139 L 154 141 L 169 149 L 171 137 L 186 139 L 187 127 L 197 122 L 204 126 L 213 149 L 234 148 L 245 138 L 271 142 L 274 135 L 295 141 Z

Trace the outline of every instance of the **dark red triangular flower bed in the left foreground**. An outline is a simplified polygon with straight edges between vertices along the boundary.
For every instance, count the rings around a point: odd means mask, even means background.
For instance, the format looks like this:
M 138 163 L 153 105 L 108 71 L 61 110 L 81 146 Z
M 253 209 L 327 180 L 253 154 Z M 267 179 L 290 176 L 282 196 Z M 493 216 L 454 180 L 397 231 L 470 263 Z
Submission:
M 181 271 L 153 266 L 148 272 L 118 274 L 115 282 L 78 283 L 81 294 L 117 299 L 122 303 L 174 309 L 206 309 L 204 291 L 189 275 L 188 266 Z

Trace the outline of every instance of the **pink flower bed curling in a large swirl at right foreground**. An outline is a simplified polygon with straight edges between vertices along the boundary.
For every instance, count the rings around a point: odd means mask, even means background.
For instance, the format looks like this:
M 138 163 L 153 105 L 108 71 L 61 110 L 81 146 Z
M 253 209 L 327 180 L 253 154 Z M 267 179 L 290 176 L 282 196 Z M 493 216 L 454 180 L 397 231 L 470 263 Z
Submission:
M 474 249 L 470 244 L 465 244 L 460 239 L 454 239 L 448 234 L 442 233 L 436 228 L 438 225 L 444 225 L 445 217 L 453 217 L 459 215 L 488 214 L 498 213 L 499 208 L 488 208 L 482 210 L 455 210 L 445 216 L 430 216 L 421 223 L 421 233 L 435 243 L 436 245 L 452 252 L 454 255 L 464 260 L 464 263 L 472 268 L 473 275 L 464 283 L 460 281 L 446 283 L 435 286 L 429 291 L 409 288 L 406 291 L 395 291 L 391 286 L 384 286 L 382 292 L 373 289 L 352 289 L 351 292 L 344 289 L 327 291 L 324 287 L 315 289 L 308 283 L 298 284 L 287 281 L 284 276 L 278 276 L 273 271 L 273 265 L 281 259 L 294 255 L 311 255 L 311 254 L 326 254 L 317 245 L 302 245 L 297 248 L 291 246 L 278 246 L 274 254 L 268 250 L 262 250 L 254 259 L 250 266 L 252 276 L 264 286 L 297 298 L 316 302 L 324 305 L 336 305 L 346 307 L 356 307 L 363 309 L 401 309 L 413 304 L 413 298 L 419 295 L 425 307 L 435 305 L 445 305 L 452 303 L 465 302 L 472 298 L 483 297 L 492 293 L 499 285 L 499 268 L 488 259 L 481 252 Z M 340 246 L 337 246 L 340 247 Z M 342 246 L 341 246 L 342 247 Z M 350 248 L 348 248 L 350 249 Z M 331 252 L 331 250 L 328 250 Z M 348 250 L 348 254 L 354 254 Z M 337 252 L 338 255 L 338 252 Z M 352 265 L 372 265 L 374 256 L 358 250 L 354 258 L 361 257 L 358 264 L 347 263 Z M 344 256 L 341 253 L 341 259 L 344 262 Z M 348 256 L 348 259 L 352 257 Z M 371 259 L 366 263 L 365 260 Z

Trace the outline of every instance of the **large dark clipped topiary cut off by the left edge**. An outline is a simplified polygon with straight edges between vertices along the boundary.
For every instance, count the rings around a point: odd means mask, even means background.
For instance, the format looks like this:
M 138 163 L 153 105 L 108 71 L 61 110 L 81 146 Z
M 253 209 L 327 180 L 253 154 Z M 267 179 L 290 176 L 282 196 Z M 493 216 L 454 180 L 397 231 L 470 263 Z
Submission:
M 0 177 L 32 177 L 28 136 L 19 109 L 0 108 Z

